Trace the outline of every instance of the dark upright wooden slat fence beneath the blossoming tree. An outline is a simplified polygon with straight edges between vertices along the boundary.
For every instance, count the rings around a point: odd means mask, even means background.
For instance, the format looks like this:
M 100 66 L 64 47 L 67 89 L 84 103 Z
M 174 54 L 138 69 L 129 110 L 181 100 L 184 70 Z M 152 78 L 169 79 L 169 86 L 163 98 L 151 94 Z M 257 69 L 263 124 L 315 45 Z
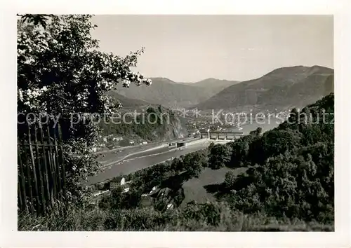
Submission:
M 60 125 L 28 125 L 18 139 L 18 209 L 48 212 L 63 200 L 66 173 Z

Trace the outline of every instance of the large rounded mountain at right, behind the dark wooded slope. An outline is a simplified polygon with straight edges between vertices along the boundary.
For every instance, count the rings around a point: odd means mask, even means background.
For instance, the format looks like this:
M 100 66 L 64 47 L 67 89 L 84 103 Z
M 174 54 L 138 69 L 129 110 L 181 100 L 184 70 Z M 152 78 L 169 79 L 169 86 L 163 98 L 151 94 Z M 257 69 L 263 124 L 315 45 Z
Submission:
M 282 108 L 305 106 L 333 92 L 333 69 L 283 67 L 260 78 L 231 85 L 194 105 L 199 109 Z

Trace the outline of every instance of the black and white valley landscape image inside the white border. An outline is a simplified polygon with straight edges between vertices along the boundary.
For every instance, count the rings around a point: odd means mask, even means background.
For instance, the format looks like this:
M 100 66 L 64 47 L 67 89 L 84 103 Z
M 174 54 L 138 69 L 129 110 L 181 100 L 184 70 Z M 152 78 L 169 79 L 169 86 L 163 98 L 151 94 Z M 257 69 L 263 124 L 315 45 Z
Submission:
M 19 232 L 336 231 L 333 15 L 15 15 Z

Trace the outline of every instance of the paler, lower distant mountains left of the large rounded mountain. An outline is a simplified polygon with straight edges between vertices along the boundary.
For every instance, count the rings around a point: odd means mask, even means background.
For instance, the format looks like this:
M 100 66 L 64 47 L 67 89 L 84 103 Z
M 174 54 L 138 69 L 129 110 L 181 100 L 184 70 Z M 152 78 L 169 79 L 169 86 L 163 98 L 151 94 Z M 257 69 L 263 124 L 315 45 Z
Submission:
M 204 102 L 213 95 L 223 90 L 237 81 L 218 80 L 208 78 L 197 83 L 176 83 L 168 78 L 151 78 L 152 85 L 121 88 L 119 95 L 132 99 L 140 99 L 152 104 L 163 106 L 192 106 L 199 102 Z

